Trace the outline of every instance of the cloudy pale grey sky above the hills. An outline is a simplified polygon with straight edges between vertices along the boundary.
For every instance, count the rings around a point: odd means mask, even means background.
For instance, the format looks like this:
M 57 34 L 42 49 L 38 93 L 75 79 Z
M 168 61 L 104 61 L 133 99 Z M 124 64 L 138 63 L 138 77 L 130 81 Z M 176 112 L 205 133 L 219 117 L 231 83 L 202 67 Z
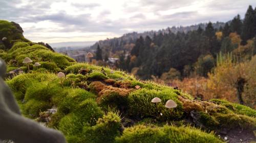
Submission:
M 124 33 L 244 17 L 255 0 L 1 0 L 0 19 L 34 42 L 98 41 Z

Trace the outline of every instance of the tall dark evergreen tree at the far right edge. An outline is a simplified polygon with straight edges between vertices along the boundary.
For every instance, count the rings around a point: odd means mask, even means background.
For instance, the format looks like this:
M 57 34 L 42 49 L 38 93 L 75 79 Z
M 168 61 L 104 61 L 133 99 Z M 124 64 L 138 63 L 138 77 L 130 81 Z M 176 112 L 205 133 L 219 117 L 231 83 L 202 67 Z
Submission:
M 242 44 L 246 44 L 248 39 L 251 39 L 255 36 L 255 18 L 254 18 L 254 10 L 251 6 L 247 9 L 247 12 L 244 17 L 243 31 L 242 31 Z

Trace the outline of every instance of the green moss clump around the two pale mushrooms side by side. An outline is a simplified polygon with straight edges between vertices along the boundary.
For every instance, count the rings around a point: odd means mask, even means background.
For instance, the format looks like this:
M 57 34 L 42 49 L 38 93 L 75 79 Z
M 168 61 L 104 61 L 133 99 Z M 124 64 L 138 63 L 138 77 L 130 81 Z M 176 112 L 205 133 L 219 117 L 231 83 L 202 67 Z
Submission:
M 162 102 L 152 103 L 151 100 L 155 97 L 160 98 Z M 176 108 L 169 109 L 164 107 L 169 99 L 177 103 Z M 129 95 L 128 100 L 131 114 L 140 118 L 152 117 L 159 120 L 179 120 L 183 115 L 182 104 L 173 90 L 136 90 Z M 160 113 L 162 113 L 162 116 L 160 116 Z

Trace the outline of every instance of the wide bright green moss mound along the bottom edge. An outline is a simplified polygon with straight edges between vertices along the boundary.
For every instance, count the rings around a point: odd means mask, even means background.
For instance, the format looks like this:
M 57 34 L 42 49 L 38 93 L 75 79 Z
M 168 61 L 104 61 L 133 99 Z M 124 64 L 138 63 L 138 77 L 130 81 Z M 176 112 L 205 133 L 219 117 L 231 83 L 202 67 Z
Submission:
M 126 128 L 122 136 L 116 137 L 116 143 L 165 143 L 165 142 L 222 142 L 212 133 L 208 134 L 191 127 L 137 125 Z

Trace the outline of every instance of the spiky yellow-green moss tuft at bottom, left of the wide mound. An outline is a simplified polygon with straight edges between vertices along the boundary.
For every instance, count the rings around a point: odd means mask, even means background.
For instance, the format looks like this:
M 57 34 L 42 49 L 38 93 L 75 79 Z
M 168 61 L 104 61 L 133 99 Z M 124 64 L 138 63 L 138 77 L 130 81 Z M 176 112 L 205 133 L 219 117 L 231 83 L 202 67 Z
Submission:
M 115 137 L 120 135 L 121 119 L 118 113 L 108 112 L 92 127 L 83 128 L 85 143 L 114 142 Z

